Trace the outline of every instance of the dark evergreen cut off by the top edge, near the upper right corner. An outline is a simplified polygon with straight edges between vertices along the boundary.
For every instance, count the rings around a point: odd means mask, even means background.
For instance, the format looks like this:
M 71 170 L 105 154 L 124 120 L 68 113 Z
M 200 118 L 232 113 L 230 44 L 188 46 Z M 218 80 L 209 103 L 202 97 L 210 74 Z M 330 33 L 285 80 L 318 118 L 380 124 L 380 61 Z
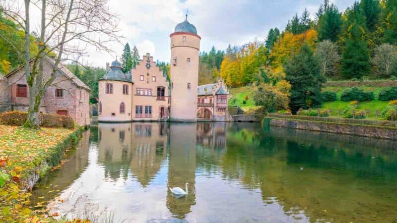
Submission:
M 374 32 L 381 12 L 379 0 L 361 0 L 360 7 L 365 15 L 368 30 Z

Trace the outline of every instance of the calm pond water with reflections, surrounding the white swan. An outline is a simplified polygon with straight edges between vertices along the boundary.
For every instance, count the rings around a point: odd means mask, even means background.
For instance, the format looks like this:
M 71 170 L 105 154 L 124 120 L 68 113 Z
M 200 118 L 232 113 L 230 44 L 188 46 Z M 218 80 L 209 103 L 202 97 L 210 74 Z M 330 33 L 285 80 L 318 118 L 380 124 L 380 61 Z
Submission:
M 397 222 L 396 148 L 256 123 L 100 123 L 32 204 L 94 222 Z M 168 190 L 186 182 L 186 197 Z

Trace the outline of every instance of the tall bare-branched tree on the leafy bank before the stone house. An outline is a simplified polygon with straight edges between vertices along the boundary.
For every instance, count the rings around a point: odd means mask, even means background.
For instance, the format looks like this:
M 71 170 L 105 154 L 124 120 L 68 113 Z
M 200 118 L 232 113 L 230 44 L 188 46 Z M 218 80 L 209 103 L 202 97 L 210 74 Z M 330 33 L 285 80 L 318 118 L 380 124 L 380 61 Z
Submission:
M 24 17 L 20 16 L 20 9 L 15 6 L 15 2 L 17 0 L 0 0 L 0 8 L 25 31 L 24 65 L 29 85 L 29 108 L 25 126 L 39 128 L 41 99 L 56 79 L 60 62 L 76 54 L 85 54 L 88 46 L 113 52 L 109 44 L 120 43 L 122 37 L 117 28 L 118 16 L 107 6 L 108 0 L 25 0 Z M 29 54 L 31 4 L 41 11 L 37 55 Z M 54 55 L 51 74 L 45 74 L 44 59 Z

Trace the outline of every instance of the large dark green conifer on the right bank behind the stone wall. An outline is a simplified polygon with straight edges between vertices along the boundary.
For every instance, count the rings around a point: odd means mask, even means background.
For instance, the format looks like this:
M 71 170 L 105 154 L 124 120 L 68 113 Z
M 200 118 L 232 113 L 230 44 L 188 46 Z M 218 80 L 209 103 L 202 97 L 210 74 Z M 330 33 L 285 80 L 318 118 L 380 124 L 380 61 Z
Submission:
M 317 108 L 322 103 L 321 87 L 326 81 L 312 49 L 305 43 L 285 66 L 285 79 L 291 84 L 291 111 Z

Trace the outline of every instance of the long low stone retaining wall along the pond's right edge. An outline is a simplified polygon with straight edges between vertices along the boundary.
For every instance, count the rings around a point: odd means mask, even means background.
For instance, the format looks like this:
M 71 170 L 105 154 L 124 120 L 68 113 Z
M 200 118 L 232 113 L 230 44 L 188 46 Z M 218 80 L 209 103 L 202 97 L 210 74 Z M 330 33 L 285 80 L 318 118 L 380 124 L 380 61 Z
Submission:
M 397 128 L 367 126 L 345 123 L 331 123 L 297 119 L 271 118 L 270 126 L 332 132 L 338 134 L 358 135 L 382 139 L 397 139 Z

